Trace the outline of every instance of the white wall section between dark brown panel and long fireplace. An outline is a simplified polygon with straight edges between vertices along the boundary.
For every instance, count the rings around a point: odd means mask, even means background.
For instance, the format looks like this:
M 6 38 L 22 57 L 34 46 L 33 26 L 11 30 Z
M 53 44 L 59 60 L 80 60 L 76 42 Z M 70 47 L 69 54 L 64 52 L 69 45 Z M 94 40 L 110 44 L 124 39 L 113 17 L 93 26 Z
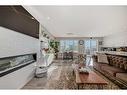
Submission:
M 39 52 L 39 40 L 0 26 L 0 58 Z

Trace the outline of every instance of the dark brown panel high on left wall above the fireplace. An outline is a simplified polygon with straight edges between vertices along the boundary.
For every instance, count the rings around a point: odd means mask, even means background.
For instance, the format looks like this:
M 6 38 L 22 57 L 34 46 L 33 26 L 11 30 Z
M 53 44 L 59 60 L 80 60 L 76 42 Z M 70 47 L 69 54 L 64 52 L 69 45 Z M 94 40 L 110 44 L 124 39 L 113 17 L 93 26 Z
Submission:
M 39 38 L 39 22 L 22 6 L 0 6 L 0 26 Z

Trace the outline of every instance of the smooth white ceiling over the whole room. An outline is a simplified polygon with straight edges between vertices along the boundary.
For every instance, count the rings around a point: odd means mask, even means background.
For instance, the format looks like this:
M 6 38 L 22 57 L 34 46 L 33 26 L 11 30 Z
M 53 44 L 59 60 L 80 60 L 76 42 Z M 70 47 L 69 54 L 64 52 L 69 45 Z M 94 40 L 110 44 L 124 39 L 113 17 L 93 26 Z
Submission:
M 127 32 L 127 6 L 24 6 L 55 37 Z

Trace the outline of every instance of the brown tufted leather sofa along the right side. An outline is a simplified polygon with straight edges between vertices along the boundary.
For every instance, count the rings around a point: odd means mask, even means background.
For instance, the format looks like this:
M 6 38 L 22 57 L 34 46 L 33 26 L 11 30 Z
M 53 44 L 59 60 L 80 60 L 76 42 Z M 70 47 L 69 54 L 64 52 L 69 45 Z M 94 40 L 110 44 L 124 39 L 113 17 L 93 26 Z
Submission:
M 120 88 L 127 89 L 127 56 L 106 54 L 109 63 L 98 62 L 98 56 L 93 55 L 93 67 Z

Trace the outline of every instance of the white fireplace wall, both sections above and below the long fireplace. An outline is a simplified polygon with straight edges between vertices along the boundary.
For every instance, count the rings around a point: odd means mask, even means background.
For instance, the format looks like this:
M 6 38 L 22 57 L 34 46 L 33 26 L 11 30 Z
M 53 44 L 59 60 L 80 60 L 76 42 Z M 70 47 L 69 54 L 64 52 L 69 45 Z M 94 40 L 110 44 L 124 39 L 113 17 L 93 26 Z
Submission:
M 0 27 L 0 58 L 28 53 L 39 54 L 39 39 Z M 0 89 L 22 88 L 34 73 L 35 63 L 0 77 Z

